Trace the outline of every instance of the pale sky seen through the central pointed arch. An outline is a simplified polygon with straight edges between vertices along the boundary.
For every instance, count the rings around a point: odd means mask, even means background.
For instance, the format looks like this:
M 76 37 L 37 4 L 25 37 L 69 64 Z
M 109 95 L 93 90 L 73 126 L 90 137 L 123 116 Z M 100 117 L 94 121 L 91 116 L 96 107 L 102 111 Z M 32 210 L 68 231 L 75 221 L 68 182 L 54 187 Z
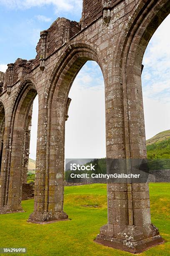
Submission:
M 68 97 L 65 158 L 105 158 L 105 86 L 95 61 L 87 61 L 80 69 Z

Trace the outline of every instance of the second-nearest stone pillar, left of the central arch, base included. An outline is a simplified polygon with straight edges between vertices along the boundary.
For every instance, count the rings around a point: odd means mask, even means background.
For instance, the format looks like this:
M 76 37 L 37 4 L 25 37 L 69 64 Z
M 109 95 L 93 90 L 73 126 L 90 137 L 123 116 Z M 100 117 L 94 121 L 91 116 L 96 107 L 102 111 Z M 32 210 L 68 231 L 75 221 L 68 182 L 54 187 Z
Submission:
M 59 105 L 60 102 L 54 101 L 48 113 L 47 109 L 39 110 L 34 212 L 28 220 L 32 223 L 44 224 L 68 220 L 68 215 L 63 212 L 64 161 L 62 149 L 64 149 L 64 143 L 63 137 L 60 140 L 57 137 L 60 132 L 62 136 L 64 134 L 66 112 L 62 111 L 64 110 L 62 101 L 62 105 L 60 105 L 62 113 L 59 117 L 61 123 L 56 123 L 57 113 L 60 112 Z

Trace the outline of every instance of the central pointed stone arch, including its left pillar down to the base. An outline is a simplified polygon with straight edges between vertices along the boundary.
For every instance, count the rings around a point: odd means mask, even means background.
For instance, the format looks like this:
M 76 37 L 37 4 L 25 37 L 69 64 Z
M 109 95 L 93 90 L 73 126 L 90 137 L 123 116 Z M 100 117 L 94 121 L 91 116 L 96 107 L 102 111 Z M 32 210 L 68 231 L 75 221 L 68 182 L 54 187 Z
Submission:
M 103 73 L 96 51 L 87 44 L 70 45 L 51 73 L 49 94 L 45 92 L 45 95 L 48 95 L 45 103 L 48 115 L 46 155 L 43 157 L 46 162 L 42 164 L 42 168 L 44 165 L 46 168 L 41 172 L 42 179 L 39 179 L 41 187 L 37 185 L 38 181 L 35 182 L 37 191 L 35 209 L 29 219 L 32 222 L 68 218 L 63 212 L 65 111 L 70 87 L 77 73 L 88 60 L 96 61 Z M 41 195 L 41 203 L 39 195 Z

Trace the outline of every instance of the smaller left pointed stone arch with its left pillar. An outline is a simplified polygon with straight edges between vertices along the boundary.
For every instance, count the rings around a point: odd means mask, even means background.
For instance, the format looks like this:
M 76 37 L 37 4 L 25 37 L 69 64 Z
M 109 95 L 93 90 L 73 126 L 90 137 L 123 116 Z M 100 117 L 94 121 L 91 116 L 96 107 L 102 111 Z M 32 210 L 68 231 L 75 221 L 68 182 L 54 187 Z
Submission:
M 3 164 L 4 177 L 2 182 L 3 202 L 1 211 L 22 211 L 21 195 L 24 166 L 25 132 L 30 121 L 32 102 L 37 95 L 37 90 L 30 80 L 25 80 L 15 94 L 13 105 L 10 108 L 8 117 L 7 137 L 8 147 L 6 148 Z M 31 109 L 32 110 L 32 109 Z M 31 113 L 30 113 L 31 112 Z

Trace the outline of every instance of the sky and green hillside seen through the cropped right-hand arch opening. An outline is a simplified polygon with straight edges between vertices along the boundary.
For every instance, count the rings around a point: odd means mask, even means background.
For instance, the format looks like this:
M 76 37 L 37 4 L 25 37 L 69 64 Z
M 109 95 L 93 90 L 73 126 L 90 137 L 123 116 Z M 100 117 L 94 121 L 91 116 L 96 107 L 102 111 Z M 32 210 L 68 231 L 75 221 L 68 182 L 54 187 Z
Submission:
M 166 33 L 169 26 L 170 15 L 153 33 L 143 56 L 141 79 L 149 182 L 169 180 L 167 144 L 170 136 L 170 44 Z

